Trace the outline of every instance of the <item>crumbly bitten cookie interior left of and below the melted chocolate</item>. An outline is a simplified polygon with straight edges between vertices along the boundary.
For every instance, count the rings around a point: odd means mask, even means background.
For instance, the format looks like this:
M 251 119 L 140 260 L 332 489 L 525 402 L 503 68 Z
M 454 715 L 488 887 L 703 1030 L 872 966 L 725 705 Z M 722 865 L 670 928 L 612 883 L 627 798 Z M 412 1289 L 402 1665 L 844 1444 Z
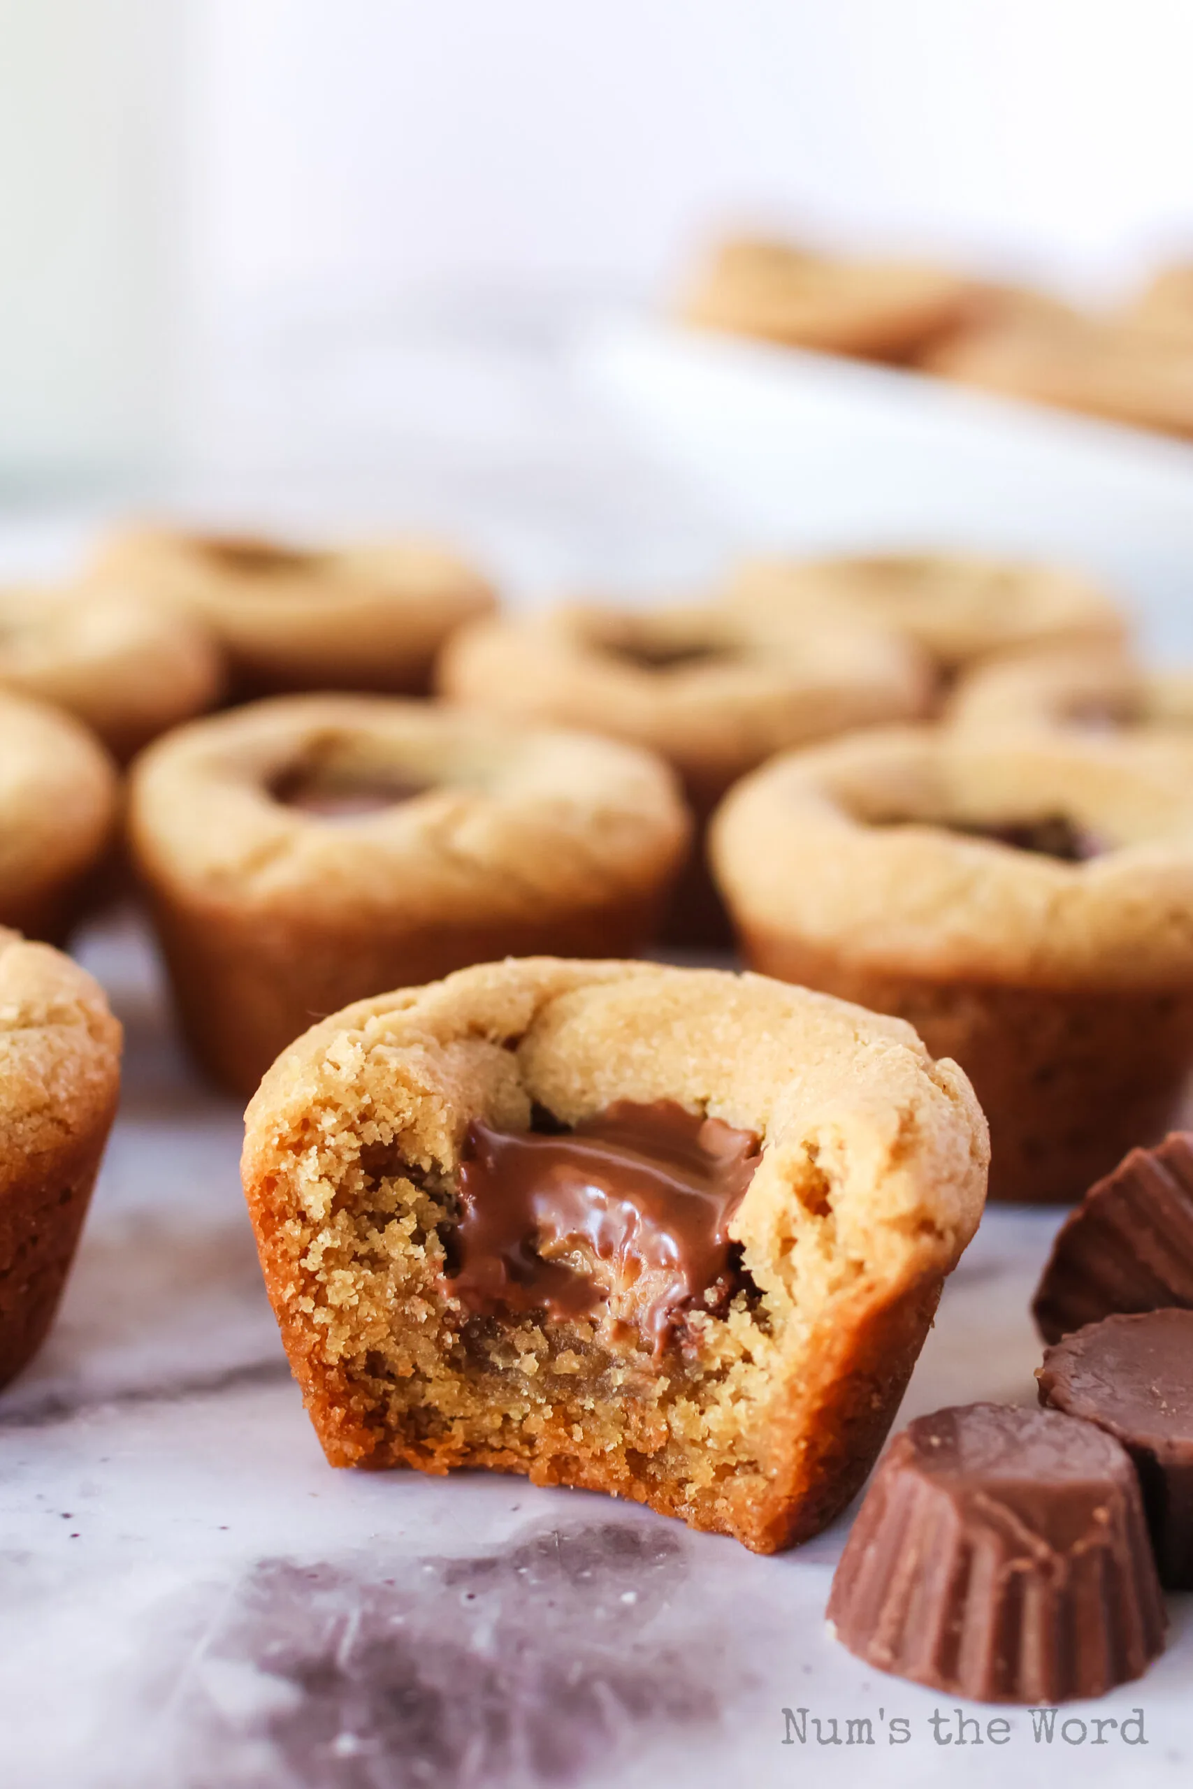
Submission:
M 520 1095 L 528 1122 L 537 1090 Z M 762 1471 L 749 1417 L 776 1310 L 740 1251 L 732 1286 L 708 1288 L 717 1311 L 692 1304 L 662 1351 L 631 1326 L 613 1338 L 596 1315 L 478 1315 L 453 1290 L 456 1165 L 411 1161 L 399 1113 L 356 1129 L 327 1140 L 340 1172 L 304 1267 L 324 1349 L 368 1410 L 381 1458 L 429 1471 L 483 1458 L 546 1481 L 599 1462 L 613 1485 L 678 1480 L 685 1497 Z M 572 1261 L 596 1267 L 583 1251 Z

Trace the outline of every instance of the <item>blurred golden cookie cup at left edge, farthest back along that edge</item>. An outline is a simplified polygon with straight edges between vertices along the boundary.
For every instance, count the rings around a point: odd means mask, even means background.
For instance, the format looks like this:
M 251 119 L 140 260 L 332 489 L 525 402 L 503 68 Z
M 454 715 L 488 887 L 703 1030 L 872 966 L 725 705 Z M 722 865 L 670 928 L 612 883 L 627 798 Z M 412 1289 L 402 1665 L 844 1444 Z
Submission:
M 0 689 L 66 708 L 127 762 L 215 707 L 224 664 L 207 630 L 145 598 L 0 590 Z

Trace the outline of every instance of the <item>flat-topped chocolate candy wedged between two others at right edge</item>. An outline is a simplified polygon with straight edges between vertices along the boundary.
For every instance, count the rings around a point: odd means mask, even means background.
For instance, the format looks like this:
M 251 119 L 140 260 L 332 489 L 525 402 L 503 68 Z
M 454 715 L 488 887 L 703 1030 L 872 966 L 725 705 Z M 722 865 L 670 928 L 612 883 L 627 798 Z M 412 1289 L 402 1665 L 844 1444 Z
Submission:
M 1161 1583 L 1193 1590 L 1193 1311 L 1107 1317 L 1036 1374 L 1041 1404 L 1118 1437 L 1136 1463 Z

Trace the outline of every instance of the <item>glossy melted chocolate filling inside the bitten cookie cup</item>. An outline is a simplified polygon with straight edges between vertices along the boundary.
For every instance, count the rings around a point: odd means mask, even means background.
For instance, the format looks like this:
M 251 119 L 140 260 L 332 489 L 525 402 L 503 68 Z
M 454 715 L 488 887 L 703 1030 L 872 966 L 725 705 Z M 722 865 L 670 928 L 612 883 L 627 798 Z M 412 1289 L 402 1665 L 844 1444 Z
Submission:
M 617 1100 L 554 1134 L 474 1120 L 449 1288 L 478 1315 L 637 1329 L 658 1356 L 685 1311 L 723 1313 L 744 1283 L 728 1225 L 758 1159 L 751 1131 L 674 1100 Z

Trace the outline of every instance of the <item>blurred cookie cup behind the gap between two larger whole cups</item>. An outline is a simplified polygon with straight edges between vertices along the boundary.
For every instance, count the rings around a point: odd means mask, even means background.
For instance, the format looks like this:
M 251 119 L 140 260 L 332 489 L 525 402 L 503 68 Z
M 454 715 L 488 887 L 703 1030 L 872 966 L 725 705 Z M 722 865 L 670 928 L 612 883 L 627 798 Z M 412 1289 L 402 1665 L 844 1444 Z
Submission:
M 630 610 L 567 605 L 481 621 L 447 644 L 445 696 L 649 746 L 678 771 L 703 823 L 724 791 L 783 746 L 916 717 L 923 655 L 887 628 L 735 614 L 724 605 Z M 703 839 L 676 896 L 673 943 L 724 936 Z

